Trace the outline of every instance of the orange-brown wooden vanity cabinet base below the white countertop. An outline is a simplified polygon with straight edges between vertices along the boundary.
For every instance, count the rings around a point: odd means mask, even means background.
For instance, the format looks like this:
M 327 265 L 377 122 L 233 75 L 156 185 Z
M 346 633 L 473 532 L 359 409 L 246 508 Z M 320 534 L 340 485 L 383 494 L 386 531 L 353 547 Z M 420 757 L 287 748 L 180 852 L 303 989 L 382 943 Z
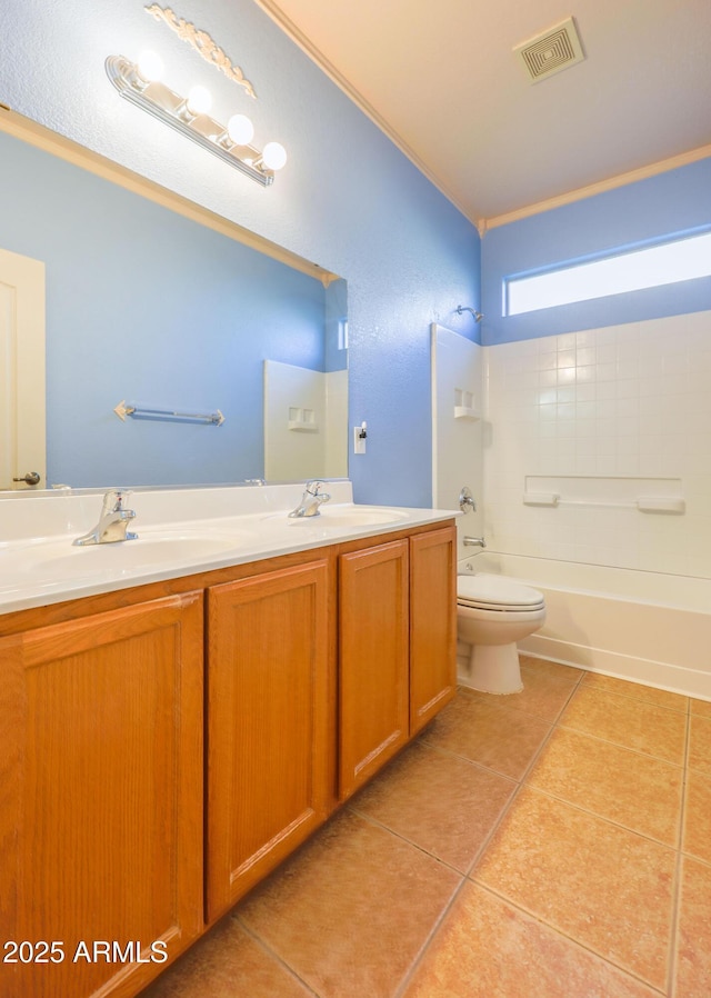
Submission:
M 168 948 L 10 966 L 3 998 L 132 998 L 421 730 L 455 688 L 454 538 L 0 615 L 0 936 Z

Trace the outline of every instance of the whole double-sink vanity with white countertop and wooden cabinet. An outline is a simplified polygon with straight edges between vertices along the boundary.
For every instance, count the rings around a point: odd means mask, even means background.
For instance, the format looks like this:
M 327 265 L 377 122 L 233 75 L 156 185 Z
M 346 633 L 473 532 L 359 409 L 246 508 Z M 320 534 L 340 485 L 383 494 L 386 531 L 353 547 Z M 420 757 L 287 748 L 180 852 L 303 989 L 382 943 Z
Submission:
M 8 998 L 137 995 L 452 698 L 454 513 L 326 488 L 0 499 Z

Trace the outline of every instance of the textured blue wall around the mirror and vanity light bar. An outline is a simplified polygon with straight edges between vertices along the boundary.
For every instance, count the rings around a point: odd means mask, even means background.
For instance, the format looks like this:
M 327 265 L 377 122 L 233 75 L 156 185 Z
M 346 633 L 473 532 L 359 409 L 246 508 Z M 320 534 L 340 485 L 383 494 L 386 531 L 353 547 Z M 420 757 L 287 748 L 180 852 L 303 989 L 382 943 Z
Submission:
M 350 422 L 369 427 L 368 453 L 350 458 L 356 498 L 429 505 L 429 327 L 478 332 L 469 315 L 454 315 L 481 305 L 474 227 L 252 0 L 186 0 L 179 14 L 242 68 L 256 102 L 134 0 L 3 0 L 2 100 L 346 278 Z M 257 144 L 286 146 L 273 187 L 121 100 L 104 59 L 146 48 L 161 54 L 169 86 L 209 86 L 216 117 L 250 113 Z M 59 389 L 50 379 L 51 423 Z

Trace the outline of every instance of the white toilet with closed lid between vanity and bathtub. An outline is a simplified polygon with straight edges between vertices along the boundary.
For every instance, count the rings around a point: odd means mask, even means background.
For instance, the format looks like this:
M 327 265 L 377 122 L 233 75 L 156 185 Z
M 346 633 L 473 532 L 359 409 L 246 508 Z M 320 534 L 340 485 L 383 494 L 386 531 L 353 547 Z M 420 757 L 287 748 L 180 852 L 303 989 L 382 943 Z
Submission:
M 471 645 L 463 683 L 488 693 L 522 690 L 515 642 L 544 620 L 545 600 L 538 589 L 485 572 L 458 576 L 457 636 Z

